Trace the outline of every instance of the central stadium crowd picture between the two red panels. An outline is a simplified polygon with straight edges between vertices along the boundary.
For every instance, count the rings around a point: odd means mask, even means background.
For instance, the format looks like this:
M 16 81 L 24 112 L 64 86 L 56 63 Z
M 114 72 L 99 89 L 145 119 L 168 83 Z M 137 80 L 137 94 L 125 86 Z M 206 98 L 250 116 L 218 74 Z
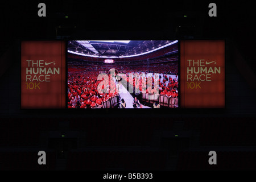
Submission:
M 67 108 L 179 107 L 177 40 L 69 40 Z

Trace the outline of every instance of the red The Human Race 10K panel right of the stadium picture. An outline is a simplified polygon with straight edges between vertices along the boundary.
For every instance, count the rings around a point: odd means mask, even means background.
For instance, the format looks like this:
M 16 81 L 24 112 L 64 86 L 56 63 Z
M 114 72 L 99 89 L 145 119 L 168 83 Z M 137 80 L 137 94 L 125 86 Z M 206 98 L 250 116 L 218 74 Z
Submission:
M 224 40 L 181 41 L 180 73 L 181 107 L 225 107 Z

